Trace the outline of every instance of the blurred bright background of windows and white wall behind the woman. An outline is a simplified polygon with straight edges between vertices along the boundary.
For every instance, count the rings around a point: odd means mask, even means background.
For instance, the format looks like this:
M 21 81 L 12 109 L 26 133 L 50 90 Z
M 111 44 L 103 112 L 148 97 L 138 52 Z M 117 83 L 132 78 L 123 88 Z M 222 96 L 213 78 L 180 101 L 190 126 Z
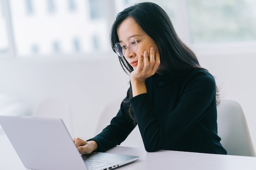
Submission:
M 241 104 L 256 146 L 256 1 L 148 1 L 168 13 L 221 97 Z M 0 0 L 0 114 L 32 115 L 59 97 L 70 104 L 74 136 L 92 137 L 106 106 L 126 96 L 129 77 L 109 32 L 117 13 L 138 2 Z

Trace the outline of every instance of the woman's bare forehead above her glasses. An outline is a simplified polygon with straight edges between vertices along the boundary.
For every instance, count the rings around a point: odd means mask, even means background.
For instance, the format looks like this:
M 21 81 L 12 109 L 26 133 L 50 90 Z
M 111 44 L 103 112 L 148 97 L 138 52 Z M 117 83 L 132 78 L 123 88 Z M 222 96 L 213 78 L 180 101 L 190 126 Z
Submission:
M 117 35 L 120 42 L 126 41 L 127 38 L 134 37 L 135 35 L 143 35 L 144 31 L 135 22 L 133 18 L 126 18 L 117 27 Z

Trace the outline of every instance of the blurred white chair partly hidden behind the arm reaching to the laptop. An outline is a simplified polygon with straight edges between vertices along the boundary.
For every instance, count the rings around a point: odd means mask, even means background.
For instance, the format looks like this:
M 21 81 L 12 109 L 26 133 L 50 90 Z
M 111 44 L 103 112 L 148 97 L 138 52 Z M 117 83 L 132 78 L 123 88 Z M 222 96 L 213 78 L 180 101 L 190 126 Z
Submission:
M 99 117 L 95 135 L 97 135 L 103 130 L 103 128 L 106 128 L 106 126 L 110 124 L 111 119 L 117 115 L 120 105 L 120 100 L 115 100 L 107 104 Z M 126 140 L 120 144 L 120 146 L 144 148 L 138 125 L 132 130 L 132 132 L 128 135 Z

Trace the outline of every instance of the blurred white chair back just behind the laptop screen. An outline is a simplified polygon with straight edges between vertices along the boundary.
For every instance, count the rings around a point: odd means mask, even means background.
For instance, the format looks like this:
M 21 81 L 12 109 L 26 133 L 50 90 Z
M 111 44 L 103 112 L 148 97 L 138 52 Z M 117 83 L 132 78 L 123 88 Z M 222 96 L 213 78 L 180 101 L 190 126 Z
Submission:
M 49 97 L 43 99 L 35 107 L 32 117 L 60 118 L 70 135 L 73 135 L 70 105 L 62 98 Z

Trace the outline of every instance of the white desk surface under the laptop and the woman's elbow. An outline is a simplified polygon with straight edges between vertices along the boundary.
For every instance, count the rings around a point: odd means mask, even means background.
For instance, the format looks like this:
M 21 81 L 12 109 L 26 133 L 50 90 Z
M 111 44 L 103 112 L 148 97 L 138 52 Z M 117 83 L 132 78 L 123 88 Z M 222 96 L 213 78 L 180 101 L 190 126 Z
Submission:
M 117 146 L 109 153 L 136 155 L 141 158 L 117 170 L 256 170 L 256 157 L 216 155 Z M 0 131 L 0 170 L 26 170 L 8 138 Z

